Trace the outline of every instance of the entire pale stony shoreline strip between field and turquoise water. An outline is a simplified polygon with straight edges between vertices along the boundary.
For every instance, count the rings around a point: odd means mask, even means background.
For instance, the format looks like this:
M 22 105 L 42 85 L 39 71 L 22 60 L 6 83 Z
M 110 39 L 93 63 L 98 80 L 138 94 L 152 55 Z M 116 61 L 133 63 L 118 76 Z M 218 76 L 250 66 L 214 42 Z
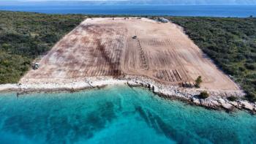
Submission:
M 58 82 L 58 83 L 54 83 Z M 206 88 L 181 88 L 178 86 L 170 86 L 157 83 L 146 77 L 131 76 L 125 77 L 86 77 L 84 80 L 52 80 L 50 83 L 15 83 L 0 85 L 0 92 L 15 91 L 17 95 L 32 92 L 59 92 L 59 91 L 82 91 L 91 88 L 103 88 L 105 86 L 127 85 L 129 87 L 144 87 L 152 91 L 154 94 L 165 99 L 178 99 L 189 102 L 192 105 L 202 106 L 214 110 L 233 111 L 249 110 L 256 113 L 256 104 L 248 102 L 242 97 L 244 91 L 236 90 L 210 90 Z M 199 99 L 197 96 L 201 91 L 207 91 L 210 95 L 207 99 Z M 228 96 L 237 96 L 238 100 L 231 102 Z

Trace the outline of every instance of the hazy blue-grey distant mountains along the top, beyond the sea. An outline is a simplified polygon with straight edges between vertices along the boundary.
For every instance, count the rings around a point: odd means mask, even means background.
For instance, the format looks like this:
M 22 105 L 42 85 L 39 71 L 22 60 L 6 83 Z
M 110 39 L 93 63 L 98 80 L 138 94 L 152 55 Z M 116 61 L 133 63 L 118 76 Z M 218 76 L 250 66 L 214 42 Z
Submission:
M 256 4 L 256 0 L 99 0 L 99 1 L 38 1 L 38 0 L 5 0 L 0 1 L 1 5 L 20 5 L 20 4 L 172 4 L 172 5 L 229 5 L 229 4 Z

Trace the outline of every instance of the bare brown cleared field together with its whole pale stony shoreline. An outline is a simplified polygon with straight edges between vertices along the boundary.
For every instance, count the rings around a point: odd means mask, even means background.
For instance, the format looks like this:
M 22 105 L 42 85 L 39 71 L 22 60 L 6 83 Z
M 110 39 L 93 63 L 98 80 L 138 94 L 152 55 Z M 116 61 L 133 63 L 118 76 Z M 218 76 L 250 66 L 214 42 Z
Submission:
M 148 18 L 86 18 L 18 84 L 0 91 L 75 91 L 113 84 L 144 86 L 167 99 L 214 109 L 256 110 L 244 91 L 187 37 L 181 26 Z M 195 80 L 202 77 L 200 88 Z M 207 99 L 198 95 L 207 91 Z M 231 102 L 230 96 L 239 100 Z

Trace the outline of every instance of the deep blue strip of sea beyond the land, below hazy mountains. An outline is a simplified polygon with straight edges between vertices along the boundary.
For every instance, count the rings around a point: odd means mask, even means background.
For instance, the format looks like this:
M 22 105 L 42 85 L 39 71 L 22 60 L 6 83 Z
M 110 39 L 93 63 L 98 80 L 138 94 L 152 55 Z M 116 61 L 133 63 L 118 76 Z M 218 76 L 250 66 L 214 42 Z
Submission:
M 20 5 L 0 6 L 0 10 L 42 12 L 53 14 L 103 15 L 175 15 L 212 17 L 256 16 L 256 5 L 231 6 L 173 6 L 173 5 Z

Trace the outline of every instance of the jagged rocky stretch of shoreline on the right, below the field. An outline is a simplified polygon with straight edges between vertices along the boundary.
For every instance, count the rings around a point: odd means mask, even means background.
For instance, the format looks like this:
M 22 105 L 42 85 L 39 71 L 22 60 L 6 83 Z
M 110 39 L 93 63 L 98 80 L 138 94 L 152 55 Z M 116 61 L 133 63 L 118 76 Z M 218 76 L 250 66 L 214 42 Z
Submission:
M 145 80 L 149 83 L 145 83 Z M 243 99 L 244 91 L 228 91 L 228 90 L 207 90 L 203 88 L 180 88 L 176 86 L 165 86 L 156 83 L 152 80 L 143 78 L 129 83 L 128 86 L 143 86 L 149 88 L 154 94 L 157 94 L 165 99 L 178 99 L 184 102 L 189 102 L 192 105 L 203 106 L 214 110 L 249 110 L 251 113 L 256 113 L 256 104 Z M 207 91 L 210 96 L 207 99 L 200 99 L 198 95 L 201 91 Z M 231 102 L 227 99 L 228 96 L 236 96 L 238 100 Z

